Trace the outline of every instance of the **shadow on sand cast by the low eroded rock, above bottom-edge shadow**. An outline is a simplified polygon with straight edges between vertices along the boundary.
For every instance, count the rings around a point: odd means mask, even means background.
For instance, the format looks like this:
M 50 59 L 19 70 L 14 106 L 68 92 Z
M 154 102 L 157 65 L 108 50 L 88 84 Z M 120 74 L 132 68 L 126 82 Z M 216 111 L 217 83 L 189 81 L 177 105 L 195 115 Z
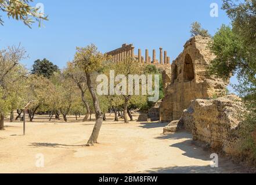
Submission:
M 176 147 L 182 151 L 185 151 L 185 153 L 182 154 L 183 156 L 203 161 L 211 161 L 211 153 L 209 151 L 204 151 L 200 146 L 194 145 L 193 139 L 185 140 L 181 143 L 175 143 L 170 147 Z

